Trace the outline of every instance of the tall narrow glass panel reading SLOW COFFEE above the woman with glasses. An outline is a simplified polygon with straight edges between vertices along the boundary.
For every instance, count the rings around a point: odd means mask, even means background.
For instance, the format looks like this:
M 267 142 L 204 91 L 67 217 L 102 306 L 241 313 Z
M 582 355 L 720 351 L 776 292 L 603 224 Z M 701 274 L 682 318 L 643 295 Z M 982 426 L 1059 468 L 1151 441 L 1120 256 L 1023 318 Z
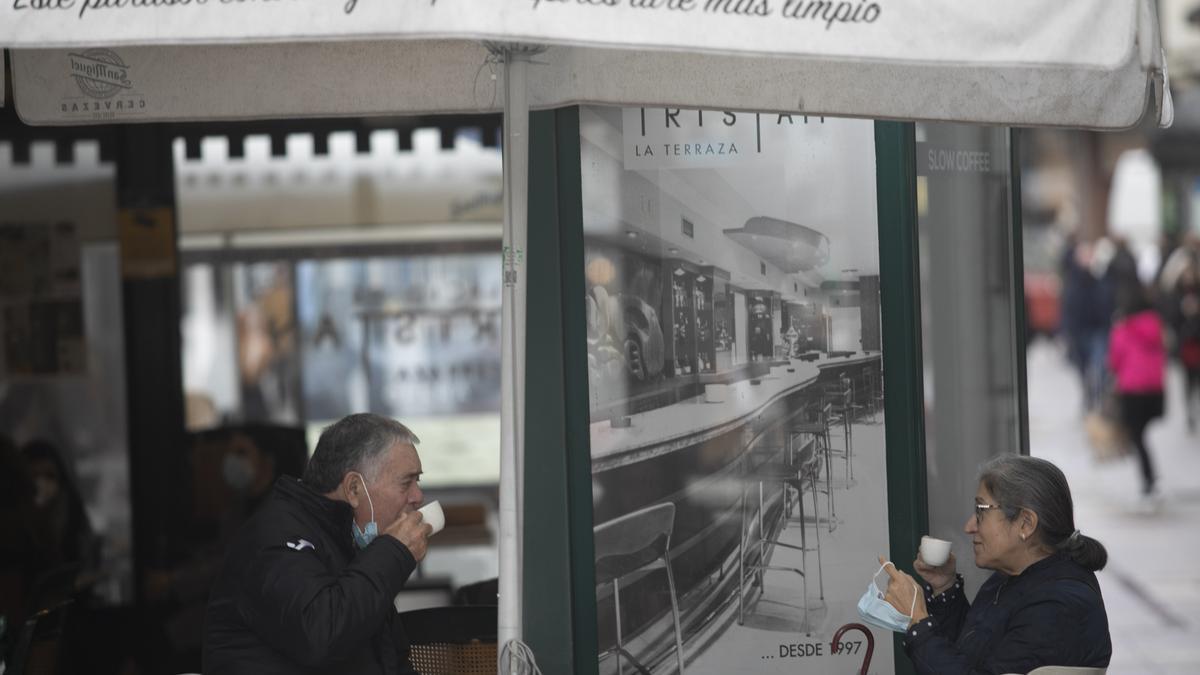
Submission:
M 917 125 L 930 533 L 955 550 L 979 466 L 1021 449 L 1009 166 L 1006 129 Z

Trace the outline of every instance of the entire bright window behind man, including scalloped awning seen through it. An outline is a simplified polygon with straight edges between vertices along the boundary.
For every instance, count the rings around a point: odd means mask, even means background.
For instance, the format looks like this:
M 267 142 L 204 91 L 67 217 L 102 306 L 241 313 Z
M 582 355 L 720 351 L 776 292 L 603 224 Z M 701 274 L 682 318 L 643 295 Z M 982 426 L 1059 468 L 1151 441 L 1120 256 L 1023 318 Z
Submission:
M 324 133 L 283 156 L 257 135 L 239 159 L 175 142 L 187 426 L 299 428 L 311 453 L 376 412 L 421 438 L 424 484 L 493 486 L 499 150 L 469 127 L 452 148 L 437 129 Z

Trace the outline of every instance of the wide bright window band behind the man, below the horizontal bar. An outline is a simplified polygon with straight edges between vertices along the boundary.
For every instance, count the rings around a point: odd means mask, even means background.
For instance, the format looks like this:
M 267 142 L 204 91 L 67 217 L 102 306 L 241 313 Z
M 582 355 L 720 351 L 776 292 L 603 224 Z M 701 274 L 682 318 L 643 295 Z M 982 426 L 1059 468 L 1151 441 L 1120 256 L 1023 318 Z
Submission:
M 498 265 L 487 252 L 188 262 L 188 428 L 301 424 L 314 448 L 325 425 L 371 411 L 421 437 L 427 484 L 494 483 Z

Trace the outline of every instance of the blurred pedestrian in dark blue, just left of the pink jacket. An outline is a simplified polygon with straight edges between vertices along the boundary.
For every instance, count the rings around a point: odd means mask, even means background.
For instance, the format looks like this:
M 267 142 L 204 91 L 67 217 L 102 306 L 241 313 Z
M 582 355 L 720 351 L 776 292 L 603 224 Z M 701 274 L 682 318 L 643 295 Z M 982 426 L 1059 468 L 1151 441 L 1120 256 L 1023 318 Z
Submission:
M 1106 389 L 1104 359 L 1115 304 L 1109 263 L 1115 255 L 1115 246 L 1106 239 L 1092 243 L 1072 237 L 1060 264 L 1062 331 L 1067 356 L 1082 384 L 1085 413 L 1099 410 Z

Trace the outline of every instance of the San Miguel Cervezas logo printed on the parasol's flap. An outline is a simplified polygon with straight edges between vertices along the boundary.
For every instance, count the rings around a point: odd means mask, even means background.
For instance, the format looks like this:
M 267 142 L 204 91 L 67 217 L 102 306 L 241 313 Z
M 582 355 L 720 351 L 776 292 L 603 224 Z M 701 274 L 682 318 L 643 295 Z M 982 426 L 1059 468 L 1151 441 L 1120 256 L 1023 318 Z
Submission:
M 71 118 L 114 119 L 118 114 L 145 113 L 146 101 L 134 89 L 128 64 L 112 49 L 67 54 L 68 76 L 83 96 L 67 96 L 61 112 Z

